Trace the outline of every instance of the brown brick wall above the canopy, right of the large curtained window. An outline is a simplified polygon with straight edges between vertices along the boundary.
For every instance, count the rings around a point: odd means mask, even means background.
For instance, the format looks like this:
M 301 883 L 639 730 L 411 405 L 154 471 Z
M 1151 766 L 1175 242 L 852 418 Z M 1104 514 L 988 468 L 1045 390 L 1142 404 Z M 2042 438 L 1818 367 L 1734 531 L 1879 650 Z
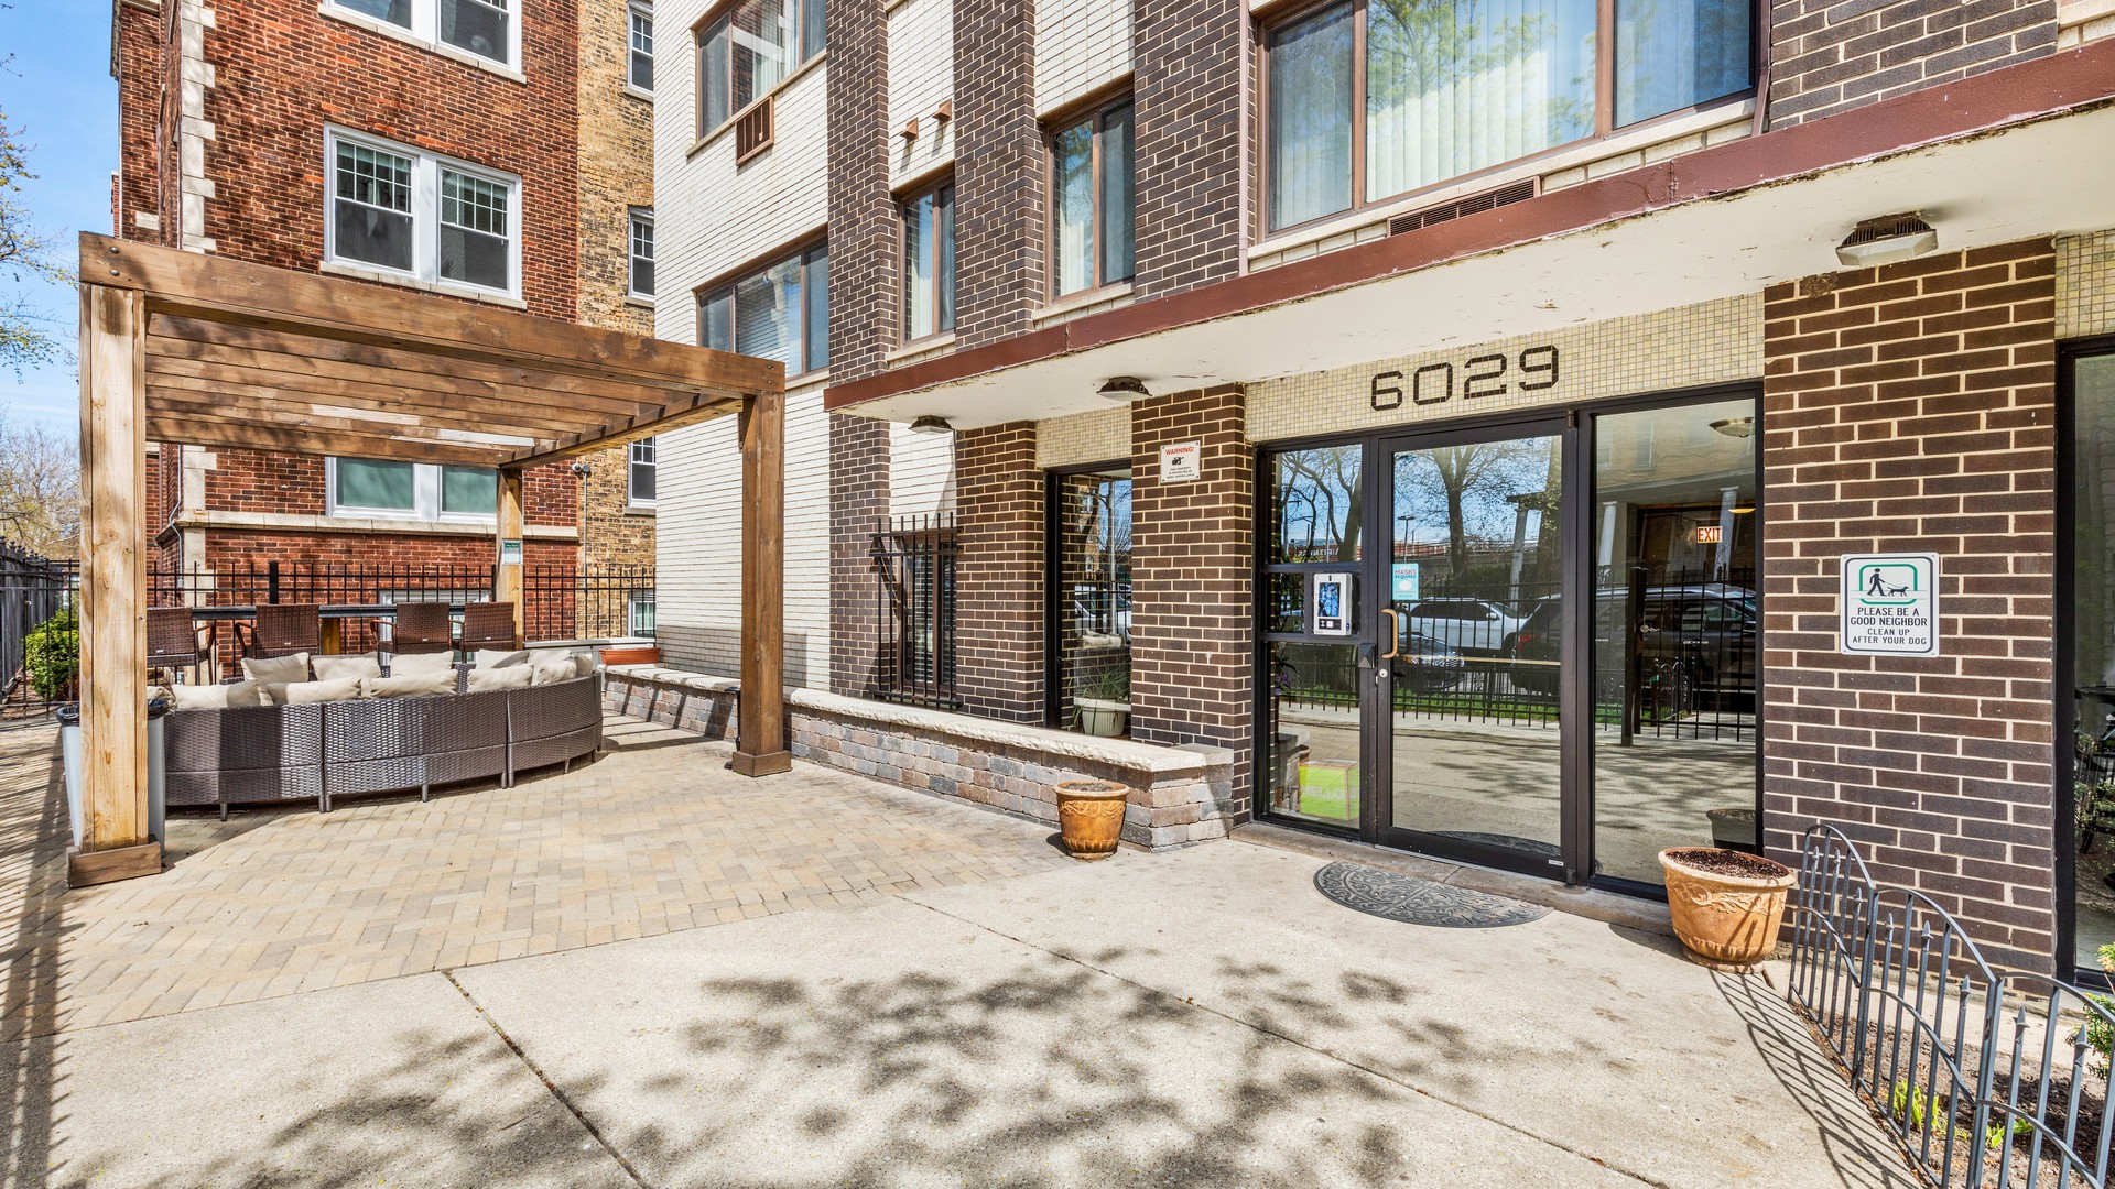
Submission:
M 1770 125 L 2056 53 L 2056 0 L 1777 0 Z

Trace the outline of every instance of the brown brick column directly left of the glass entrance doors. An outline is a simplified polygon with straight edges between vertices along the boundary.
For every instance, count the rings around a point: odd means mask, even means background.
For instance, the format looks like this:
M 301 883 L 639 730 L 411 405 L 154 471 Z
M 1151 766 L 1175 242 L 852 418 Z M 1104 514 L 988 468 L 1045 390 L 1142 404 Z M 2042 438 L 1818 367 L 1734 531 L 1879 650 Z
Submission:
M 1132 738 L 1233 749 L 1235 819 L 1250 810 L 1256 660 L 1246 419 L 1239 387 L 1132 406 Z M 1191 440 L 1203 442 L 1201 474 L 1161 482 L 1161 446 Z

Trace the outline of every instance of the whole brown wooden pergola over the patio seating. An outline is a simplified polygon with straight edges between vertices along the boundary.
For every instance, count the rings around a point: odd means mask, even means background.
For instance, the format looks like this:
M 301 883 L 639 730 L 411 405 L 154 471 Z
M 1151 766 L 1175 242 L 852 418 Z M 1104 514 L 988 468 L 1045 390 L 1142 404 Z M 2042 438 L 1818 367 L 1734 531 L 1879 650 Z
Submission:
M 522 614 L 522 470 L 736 415 L 742 713 L 734 768 L 785 772 L 785 366 L 197 252 L 80 237 L 80 850 L 70 882 L 161 872 L 148 836 L 146 444 L 499 472 L 495 592 Z

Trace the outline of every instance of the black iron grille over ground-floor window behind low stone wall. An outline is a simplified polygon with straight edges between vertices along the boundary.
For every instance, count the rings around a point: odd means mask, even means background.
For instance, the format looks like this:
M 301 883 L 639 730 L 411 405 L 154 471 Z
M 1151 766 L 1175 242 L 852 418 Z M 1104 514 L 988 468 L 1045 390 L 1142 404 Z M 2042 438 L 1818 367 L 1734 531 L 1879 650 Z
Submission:
M 954 516 L 882 520 L 869 546 L 880 656 L 876 694 L 895 702 L 956 707 Z

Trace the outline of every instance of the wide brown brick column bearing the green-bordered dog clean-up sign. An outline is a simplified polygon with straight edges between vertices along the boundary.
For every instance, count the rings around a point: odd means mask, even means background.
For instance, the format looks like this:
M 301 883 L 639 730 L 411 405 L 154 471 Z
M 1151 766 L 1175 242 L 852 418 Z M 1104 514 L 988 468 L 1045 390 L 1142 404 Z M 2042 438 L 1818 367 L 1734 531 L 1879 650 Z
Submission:
M 1842 827 L 2047 971 L 2056 347 L 2047 239 L 1764 294 L 1768 848 Z M 1935 658 L 1838 652 L 1838 559 L 1937 552 Z

